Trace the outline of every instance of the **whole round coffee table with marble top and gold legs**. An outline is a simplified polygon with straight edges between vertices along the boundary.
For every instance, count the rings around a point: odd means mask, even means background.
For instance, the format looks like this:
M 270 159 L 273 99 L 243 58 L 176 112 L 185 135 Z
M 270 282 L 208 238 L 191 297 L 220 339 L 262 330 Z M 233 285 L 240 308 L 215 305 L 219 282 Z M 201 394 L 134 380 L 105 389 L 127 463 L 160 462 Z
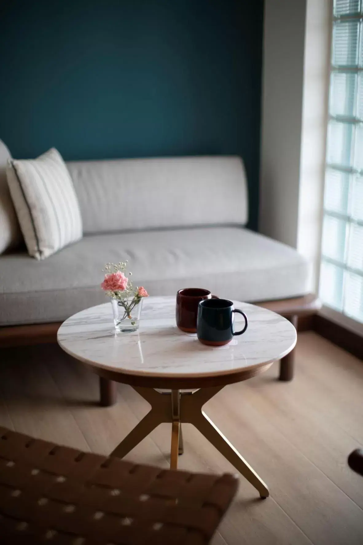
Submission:
M 202 407 L 227 384 L 266 371 L 293 349 L 297 335 L 294 326 L 279 314 L 239 301 L 233 303 L 247 314 L 248 330 L 224 347 L 207 347 L 196 335 L 177 329 L 174 297 L 145 299 L 139 330 L 127 333 L 115 331 L 109 302 L 87 308 L 60 326 L 58 343 L 101 380 L 130 384 L 151 405 L 112 456 L 126 456 L 159 424 L 170 422 L 170 468 L 176 469 L 178 455 L 183 452 L 181 424 L 188 422 L 259 491 L 261 498 L 267 498 L 265 483 Z M 238 329 L 238 314 L 235 319 Z

